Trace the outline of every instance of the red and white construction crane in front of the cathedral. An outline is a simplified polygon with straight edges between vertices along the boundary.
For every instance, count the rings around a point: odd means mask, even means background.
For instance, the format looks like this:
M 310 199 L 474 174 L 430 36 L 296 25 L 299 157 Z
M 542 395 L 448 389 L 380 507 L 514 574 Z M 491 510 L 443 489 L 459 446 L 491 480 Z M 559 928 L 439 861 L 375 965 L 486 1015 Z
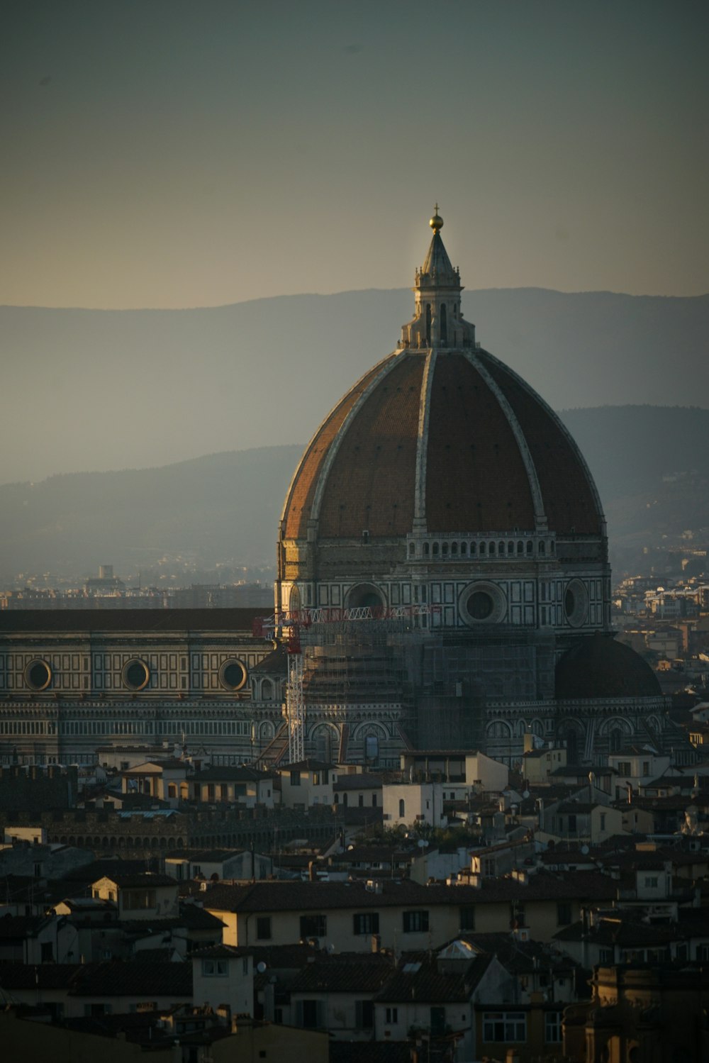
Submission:
M 350 609 L 322 606 L 275 612 L 254 621 L 257 638 L 277 638 L 285 641 L 288 656 L 286 681 L 286 720 L 288 725 L 288 760 L 291 764 L 305 760 L 305 654 L 302 630 L 314 624 L 341 624 L 345 621 L 408 620 L 440 613 L 440 606 L 353 606 Z

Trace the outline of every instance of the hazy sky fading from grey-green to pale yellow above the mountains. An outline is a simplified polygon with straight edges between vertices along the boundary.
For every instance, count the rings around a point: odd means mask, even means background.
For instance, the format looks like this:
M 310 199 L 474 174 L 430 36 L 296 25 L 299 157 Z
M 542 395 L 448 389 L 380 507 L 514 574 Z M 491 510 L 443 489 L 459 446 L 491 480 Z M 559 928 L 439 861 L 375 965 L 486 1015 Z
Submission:
M 0 303 L 709 290 L 709 5 L 14 0 Z

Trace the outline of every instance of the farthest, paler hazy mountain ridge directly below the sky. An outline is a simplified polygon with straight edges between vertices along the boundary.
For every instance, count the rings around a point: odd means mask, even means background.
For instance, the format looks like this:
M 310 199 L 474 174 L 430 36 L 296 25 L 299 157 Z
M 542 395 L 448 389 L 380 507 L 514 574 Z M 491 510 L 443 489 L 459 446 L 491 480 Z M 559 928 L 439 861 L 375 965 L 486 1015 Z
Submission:
M 482 344 L 555 408 L 709 394 L 709 296 L 466 291 Z M 305 440 L 393 350 L 408 289 L 191 310 L 0 307 L 0 484 Z

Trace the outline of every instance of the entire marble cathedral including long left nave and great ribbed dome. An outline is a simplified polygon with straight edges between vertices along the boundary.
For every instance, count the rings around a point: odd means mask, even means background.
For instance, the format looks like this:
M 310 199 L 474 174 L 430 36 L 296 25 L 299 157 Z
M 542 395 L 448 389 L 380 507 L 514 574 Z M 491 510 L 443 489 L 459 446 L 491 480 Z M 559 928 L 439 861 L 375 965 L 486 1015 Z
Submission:
M 0 762 L 182 743 L 226 763 L 478 748 L 511 764 L 564 743 L 593 763 L 662 744 L 657 679 L 613 638 L 593 478 L 477 341 L 442 227 L 436 209 L 395 350 L 294 472 L 273 629 L 244 609 L 5 613 Z

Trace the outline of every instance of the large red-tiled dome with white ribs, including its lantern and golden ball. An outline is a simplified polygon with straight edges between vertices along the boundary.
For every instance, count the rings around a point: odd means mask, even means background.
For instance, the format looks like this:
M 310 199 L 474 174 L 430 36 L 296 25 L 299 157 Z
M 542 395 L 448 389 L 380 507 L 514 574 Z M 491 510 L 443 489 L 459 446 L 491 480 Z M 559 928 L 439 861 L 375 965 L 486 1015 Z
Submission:
M 391 539 L 417 528 L 603 536 L 576 444 L 533 388 L 475 342 L 437 212 L 431 223 L 416 316 L 396 351 L 317 431 L 288 491 L 282 538 Z

